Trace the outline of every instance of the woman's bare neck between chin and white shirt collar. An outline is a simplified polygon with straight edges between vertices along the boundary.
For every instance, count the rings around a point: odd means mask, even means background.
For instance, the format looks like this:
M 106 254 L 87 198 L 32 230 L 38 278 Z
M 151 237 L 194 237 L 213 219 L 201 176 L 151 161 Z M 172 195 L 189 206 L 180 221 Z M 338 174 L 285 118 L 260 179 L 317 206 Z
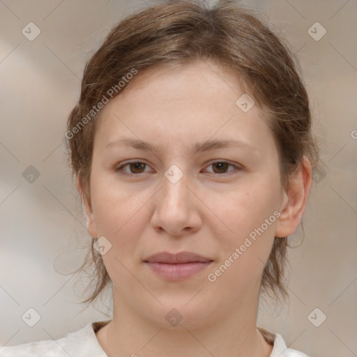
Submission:
M 257 330 L 258 301 L 240 303 L 212 324 L 169 329 L 137 314 L 118 291 L 113 296 L 113 319 L 97 332 L 108 357 L 268 357 L 273 349 Z

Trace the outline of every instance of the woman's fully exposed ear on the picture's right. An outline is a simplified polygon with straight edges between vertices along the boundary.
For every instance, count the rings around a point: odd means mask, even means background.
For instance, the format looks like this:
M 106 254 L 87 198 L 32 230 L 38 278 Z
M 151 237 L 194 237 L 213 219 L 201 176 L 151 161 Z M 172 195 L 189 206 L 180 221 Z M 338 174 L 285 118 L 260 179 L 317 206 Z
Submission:
M 303 157 L 298 172 L 291 178 L 288 192 L 283 193 L 280 206 L 280 217 L 275 226 L 276 237 L 287 237 L 294 234 L 305 211 L 307 198 L 312 184 L 310 160 Z

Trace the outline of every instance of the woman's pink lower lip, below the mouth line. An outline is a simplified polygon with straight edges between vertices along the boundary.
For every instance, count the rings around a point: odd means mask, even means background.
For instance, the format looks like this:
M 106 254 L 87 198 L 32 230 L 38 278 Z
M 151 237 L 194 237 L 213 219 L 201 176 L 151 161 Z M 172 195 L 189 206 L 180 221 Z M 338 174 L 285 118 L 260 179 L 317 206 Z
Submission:
M 167 280 L 181 280 L 189 278 L 192 275 L 203 271 L 212 263 L 212 261 L 192 261 L 190 263 L 182 264 L 166 264 L 166 263 L 150 263 L 146 261 L 146 264 L 150 268 Z

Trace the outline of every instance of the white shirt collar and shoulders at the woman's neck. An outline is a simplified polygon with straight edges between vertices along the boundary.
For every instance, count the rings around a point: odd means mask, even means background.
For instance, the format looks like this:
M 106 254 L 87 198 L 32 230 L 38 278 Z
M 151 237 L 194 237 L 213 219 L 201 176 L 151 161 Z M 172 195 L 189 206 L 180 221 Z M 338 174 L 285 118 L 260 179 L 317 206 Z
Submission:
M 96 337 L 96 331 L 107 322 L 91 322 L 84 328 L 68 333 L 66 337 L 57 340 L 43 340 L 2 347 L 0 348 L 0 357 L 107 357 Z M 140 355 L 139 352 L 137 355 Z M 295 349 L 288 349 L 282 335 L 275 333 L 270 357 L 308 356 Z

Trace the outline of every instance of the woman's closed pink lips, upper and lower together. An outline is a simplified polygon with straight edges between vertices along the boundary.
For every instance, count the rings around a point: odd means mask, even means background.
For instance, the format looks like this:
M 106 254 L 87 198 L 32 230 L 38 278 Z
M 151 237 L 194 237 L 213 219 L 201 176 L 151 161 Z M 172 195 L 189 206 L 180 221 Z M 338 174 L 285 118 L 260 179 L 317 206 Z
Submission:
M 212 259 L 192 252 L 159 252 L 144 260 L 151 270 L 166 280 L 182 280 L 206 269 Z

